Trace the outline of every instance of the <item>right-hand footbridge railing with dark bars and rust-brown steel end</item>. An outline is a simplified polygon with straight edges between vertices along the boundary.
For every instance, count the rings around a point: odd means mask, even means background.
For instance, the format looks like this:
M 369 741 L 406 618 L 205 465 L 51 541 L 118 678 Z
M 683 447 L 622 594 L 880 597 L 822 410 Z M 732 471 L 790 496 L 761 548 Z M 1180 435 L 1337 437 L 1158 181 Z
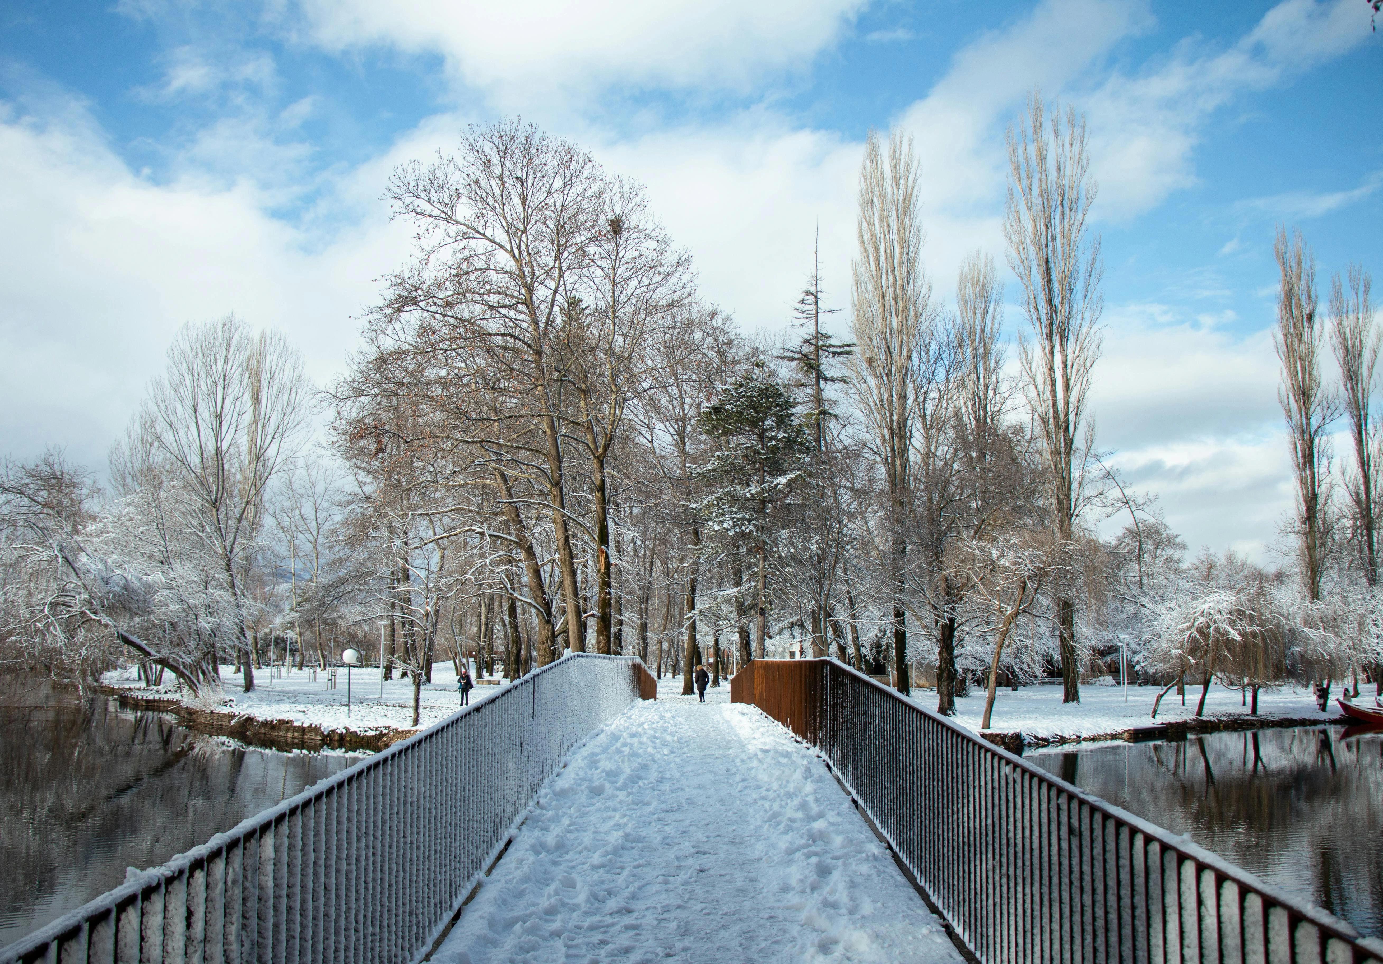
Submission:
M 1383 940 L 839 662 L 755 660 L 730 698 L 812 721 L 792 730 L 986 964 L 1383 964 Z

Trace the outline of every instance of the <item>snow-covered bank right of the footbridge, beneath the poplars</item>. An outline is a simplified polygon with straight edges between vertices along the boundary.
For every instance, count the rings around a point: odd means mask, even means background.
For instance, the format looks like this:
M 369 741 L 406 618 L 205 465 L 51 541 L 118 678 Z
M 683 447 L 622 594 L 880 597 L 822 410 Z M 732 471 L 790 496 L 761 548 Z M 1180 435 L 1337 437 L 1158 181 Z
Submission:
M 994 712 L 989 729 L 1001 733 L 1023 733 L 1041 739 L 1090 739 L 1122 733 L 1134 726 L 1152 726 L 1176 719 L 1189 719 L 1196 714 L 1200 700 L 1200 686 L 1187 686 L 1187 705 L 1176 690 L 1162 697 L 1158 719 L 1152 719 L 1152 703 L 1162 692 L 1160 686 L 1130 686 L 1127 698 L 1122 686 L 1087 683 L 1080 687 L 1079 704 L 1062 704 L 1061 683 L 1022 686 L 1017 693 L 1000 687 L 994 698 Z M 1335 697 L 1340 686 L 1330 692 L 1330 711 L 1318 712 L 1315 696 L 1307 689 L 1286 686 L 1278 690 L 1259 692 L 1260 716 L 1292 716 L 1303 719 L 1329 719 L 1339 716 Z M 913 690 L 913 700 L 927 710 L 936 708 L 935 690 Z M 1373 687 L 1366 687 L 1361 703 L 1373 704 Z M 1206 715 L 1247 715 L 1239 690 L 1225 689 L 1217 683 L 1210 686 L 1206 697 Z M 969 696 L 956 701 L 956 722 L 979 732 L 985 718 L 985 690 L 974 687 Z

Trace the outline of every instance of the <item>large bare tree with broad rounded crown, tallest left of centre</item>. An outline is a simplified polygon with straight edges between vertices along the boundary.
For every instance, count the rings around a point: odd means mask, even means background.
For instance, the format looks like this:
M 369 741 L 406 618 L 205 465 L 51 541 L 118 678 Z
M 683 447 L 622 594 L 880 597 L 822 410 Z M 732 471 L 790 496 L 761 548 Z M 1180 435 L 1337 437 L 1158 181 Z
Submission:
M 509 379 L 509 407 L 538 438 L 510 443 L 508 456 L 545 488 L 563 628 L 574 651 L 585 650 L 585 606 L 567 505 L 557 346 L 573 285 L 609 230 L 603 189 L 585 151 L 509 122 L 472 127 L 454 158 L 404 165 L 387 192 L 394 216 L 418 227 L 420 249 L 390 278 L 380 311 L 415 311 L 452 329 Z

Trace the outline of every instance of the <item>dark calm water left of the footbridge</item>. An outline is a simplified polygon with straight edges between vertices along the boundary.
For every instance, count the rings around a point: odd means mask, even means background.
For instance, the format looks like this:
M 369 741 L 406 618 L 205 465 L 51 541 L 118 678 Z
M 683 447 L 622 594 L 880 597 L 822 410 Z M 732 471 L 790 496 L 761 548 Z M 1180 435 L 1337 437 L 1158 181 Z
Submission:
M 355 759 L 227 747 L 0 676 L 0 947 Z

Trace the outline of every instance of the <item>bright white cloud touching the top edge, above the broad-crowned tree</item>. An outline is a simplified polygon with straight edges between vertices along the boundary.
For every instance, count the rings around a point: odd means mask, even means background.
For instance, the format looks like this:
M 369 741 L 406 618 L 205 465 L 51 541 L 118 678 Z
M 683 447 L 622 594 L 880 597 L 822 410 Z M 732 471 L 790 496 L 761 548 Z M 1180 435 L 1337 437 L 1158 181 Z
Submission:
M 303 0 L 328 50 L 440 54 L 466 84 L 513 106 L 615 84 L 747 90 L 804 71 L 866 0 Z

